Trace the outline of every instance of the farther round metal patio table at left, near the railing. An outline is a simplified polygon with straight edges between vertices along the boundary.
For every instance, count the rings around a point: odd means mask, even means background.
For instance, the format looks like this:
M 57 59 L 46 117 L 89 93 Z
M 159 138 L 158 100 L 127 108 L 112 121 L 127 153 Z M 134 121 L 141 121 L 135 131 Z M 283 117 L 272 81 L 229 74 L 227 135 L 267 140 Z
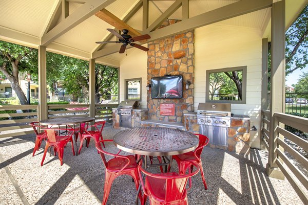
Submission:
M 60 125 L 71 125 L 73 124 L 73 129 L 75 129 L 75 124 L 81 124 L 86 122 L 92 122 L 95 118 L 91 117 L 68 117 L 68 118 L 52 118 L 52 119 L 46 119 L 41 120 L 41 125 L 57 125 L 60 127 Z M 75 141 L 75 140 L 74 140 Z M 78 145 L 75 141 L 76 146 L 76 155 L 78 155 Z

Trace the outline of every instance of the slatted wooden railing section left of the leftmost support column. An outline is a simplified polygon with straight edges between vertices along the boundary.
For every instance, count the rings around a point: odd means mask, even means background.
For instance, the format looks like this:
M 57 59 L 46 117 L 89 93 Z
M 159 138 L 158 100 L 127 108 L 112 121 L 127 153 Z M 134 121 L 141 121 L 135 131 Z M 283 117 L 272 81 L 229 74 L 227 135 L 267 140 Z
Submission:
M 0 138 L 32 134 L 30 122 L 37 121 L 37 105 L 0 105 Z

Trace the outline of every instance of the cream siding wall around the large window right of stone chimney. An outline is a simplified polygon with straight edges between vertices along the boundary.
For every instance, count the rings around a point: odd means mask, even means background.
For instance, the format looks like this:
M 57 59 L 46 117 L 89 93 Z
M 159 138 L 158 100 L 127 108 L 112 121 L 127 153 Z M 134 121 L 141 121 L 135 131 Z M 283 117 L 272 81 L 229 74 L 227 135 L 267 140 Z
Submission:
M 251 146 L 260 146 L 262 36 L 257 29 L 209 25 L 195 30 L 195 111 L 205 102 L 207 70 L 247 66 L 246 104 L 232 104 L 232 113 L 251 117 Z

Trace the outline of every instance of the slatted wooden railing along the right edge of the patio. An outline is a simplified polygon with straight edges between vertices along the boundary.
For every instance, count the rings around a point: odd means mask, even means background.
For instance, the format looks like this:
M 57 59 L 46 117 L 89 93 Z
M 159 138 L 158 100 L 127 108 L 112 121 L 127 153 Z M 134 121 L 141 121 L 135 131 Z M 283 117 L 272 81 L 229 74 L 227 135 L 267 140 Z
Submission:
M 262 136 L 263 136 L 263 143 L 268 150 L 268 142 L 271 136 L 269 124 L 270 124 L 270 115 L 268 110 L 262 110 L 263 115 L 263 123 L 264 126 L 262 128 Z M 282 135 L 284 138 L 292 141 L 293 143 L 298 146 L 299 149 L 303 149 L 304 151 L 308 152 L 308 141 L 300 138 L 299 136 L 293 134 L 285 130 L 283 127 L 280 127 L 279 124 L 288 125 L 292 128 L 297 130 L 308 132 L 308 119 L 302 118 L 298 116 L 286 115 L 285 113 L 275 113 L 274 120 L 277 121 L 278 126 L 276 127 L 278 136 Z M 293 147 L 288 145 L 284 142 L 283 139 L 277 137 L 277 147 L 274 148 L 276 158 L 274 158 L 274 162 L 290 182 L 300 199 L 303 201 L 304 204 L 308 204 L 308 179 L 307 176 L 304 174 L 302 170 L 308 170 L 308 160 L 305 156 L 300 154 L 297 150 Z M 281 151 L 283 148 L 284 151 Z M 287 152 L 287 155 L 285 154 Z M 269 155 L 271 153 L 268 153 Z M 298 164 L 294 164 L 293 160 L 290 160 L 291 156 Z

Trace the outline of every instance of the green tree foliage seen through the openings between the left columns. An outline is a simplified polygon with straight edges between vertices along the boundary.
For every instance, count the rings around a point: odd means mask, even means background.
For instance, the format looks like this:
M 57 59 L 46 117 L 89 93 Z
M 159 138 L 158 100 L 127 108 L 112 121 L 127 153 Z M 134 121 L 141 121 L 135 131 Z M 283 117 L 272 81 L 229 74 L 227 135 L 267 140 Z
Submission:
M 31 80 L 38 82 L 37 49 L 0 41 L 0 75 L 11 82 L 21 104 L 27 104 L 27 98 L 18 83 L 20 73 L 30 73 Z M 89 62 L 86 60 L 47 52 L 46 74 L 47 84 L 55 94 L 59 82 L 71 95 L 81 97 L 89 94 Z M 95 102 L 98 103 L 100 97 L 111 92 L 118 93 L 118 69 L 95 64 Z

